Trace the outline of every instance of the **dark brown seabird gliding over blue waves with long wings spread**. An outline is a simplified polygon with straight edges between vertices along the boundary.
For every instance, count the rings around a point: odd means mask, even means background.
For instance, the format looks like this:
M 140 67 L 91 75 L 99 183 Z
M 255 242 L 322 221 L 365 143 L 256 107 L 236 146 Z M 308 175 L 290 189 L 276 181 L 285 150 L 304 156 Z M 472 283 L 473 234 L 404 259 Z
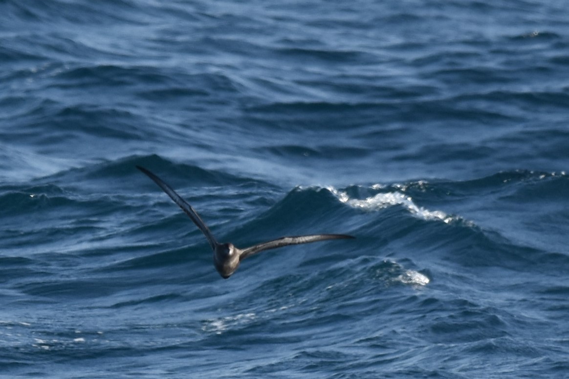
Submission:
M 345 239 L 354 238 L 345 234 L 312 234 L 305 236 L 289 236 L 281 237 L 272 241 L 267 241 L 253 245 L 251 247 L 240 249 L 235 247 L 232 243 L 218 243 L 213 237 L 212 232 L 209 230 L 207 225 L 201 220 L 197 212 L 189 205 L 179 194 L 176 193 L 169 185 L 167 185 L 162 179 L 160 179 L 155 174 L 151 173 L 149 170 L 137 166 L 139 170 L 149 176 L 182 210 L 192 219 L 193 223 L 203 232 L 205 238 L 207 238 L 209 245 L 213 250 L 213 265 L 220 273 L 221 277 L 227 279 L 237 270 L 239 264 L 246 257 L 253 254 L 261 252 L 263 250 L 275 249 L 278 247 L 297 245 L 301 243 L 309 243 L 316 241 L 323 241 L 329 239 Z

